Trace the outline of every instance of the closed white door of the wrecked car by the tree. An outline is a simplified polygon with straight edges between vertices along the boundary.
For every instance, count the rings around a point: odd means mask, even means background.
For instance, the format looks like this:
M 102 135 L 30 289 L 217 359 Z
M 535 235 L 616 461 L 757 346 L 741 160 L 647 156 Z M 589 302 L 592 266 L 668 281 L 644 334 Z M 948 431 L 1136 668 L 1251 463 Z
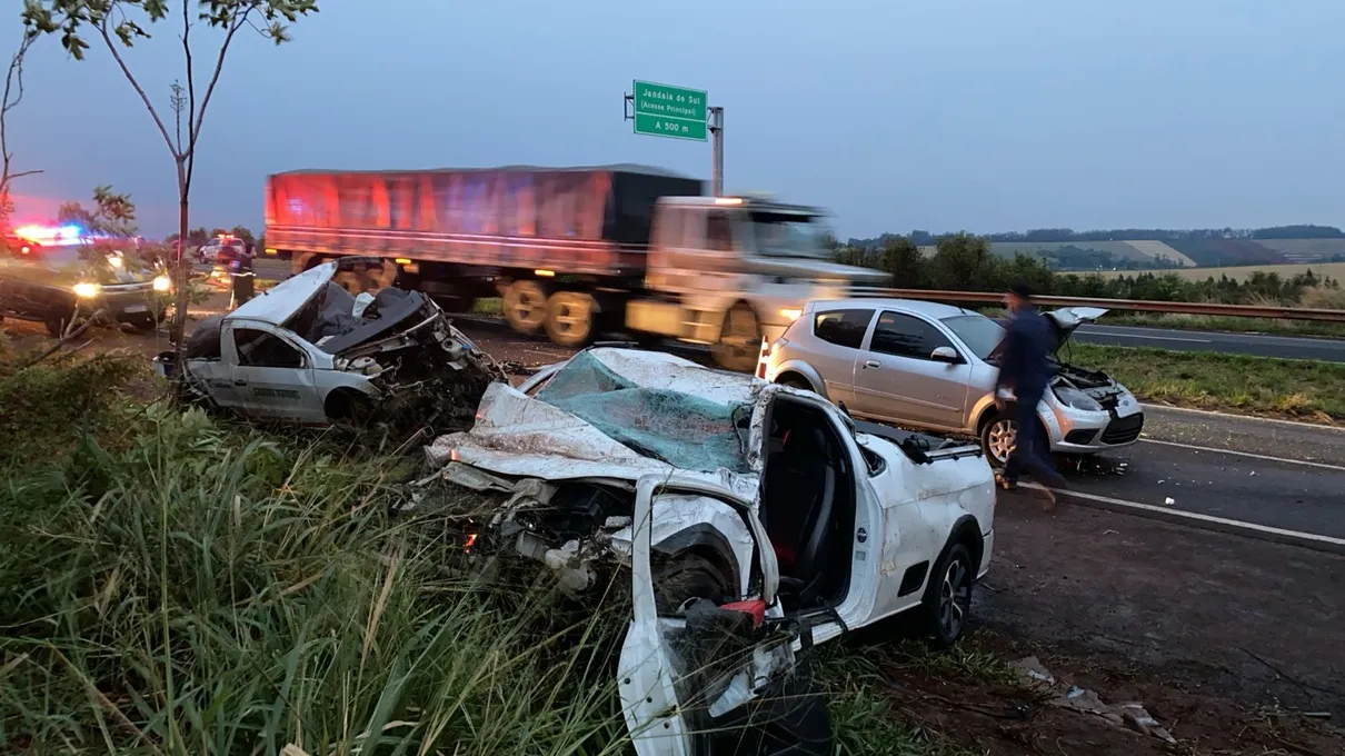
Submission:
M 239 409 L 252 417 L 323 422 L 312 361 L 295 338 L 266 323 L 226 323 L 226 354 L 234 355 L 231 379 Z M 230 348 L 231 347 L 231 348 Z

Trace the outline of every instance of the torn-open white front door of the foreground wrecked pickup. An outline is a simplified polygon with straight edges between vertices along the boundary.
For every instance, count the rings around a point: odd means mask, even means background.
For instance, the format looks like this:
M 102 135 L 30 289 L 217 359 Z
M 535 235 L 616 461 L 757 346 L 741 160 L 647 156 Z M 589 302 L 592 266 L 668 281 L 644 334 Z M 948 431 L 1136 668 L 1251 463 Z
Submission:
M 695 658 L 701 635 L 690 617 L 660 616 L 651 556 L 652 513 L 656 495 L 703 494 L 721 496 L 722 491 L 703 482 L 648 475 L 636 483 L 631 537 L 631 623 L 621 644 L 617 689 L 621 714 L 631 733 L 638 756 L 709 756 L 716 729 L 741 721 L 745 706 L 755 705 L 760 693 L 790 677 L 794 670 L 792 644 L 799 632 L 784 630 L 775 592 L 779 569 L 769 549 L 765 529 L 751 506 L 736 502 L 757 543 L 757 566 L 761 574 L 760 596 L 709 609 L 716 619 L 742 620 L 732 630 L 729 646 L 745 652 Z M 745 616 L 738 616 L 745 615 Z M 703 615 L 702 615 L 703 616 Z M 752 630 L 744 630 L 751 626 Z M 744 635 L 751 635 L 744 638 Z M 725 640 L 717 638 L 714 650 Z M 713 652 L 713 651 L 712 651 Z M 705 665 L 702 662 L 709 662 Z M 713 666 L 713 683 L 703 685 Z

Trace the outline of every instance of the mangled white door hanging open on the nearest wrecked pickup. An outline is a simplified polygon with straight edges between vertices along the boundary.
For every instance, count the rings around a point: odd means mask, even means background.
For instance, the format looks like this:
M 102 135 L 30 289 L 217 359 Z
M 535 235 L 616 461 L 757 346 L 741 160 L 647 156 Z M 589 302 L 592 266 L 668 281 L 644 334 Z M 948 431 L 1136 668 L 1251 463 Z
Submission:
M 689 599 L 659 613 L 652 564 L 652 513 L 659 495 L 724 491 L 662 475 L 636 486 L 631 542 L 632 617 L 621 646 L 621 710 L 638 756 L 822 755 L 830 720 L 807 690 L 794 646 L 799 627 L 775 596 L 775 553 L 751 506 L 729 502 L 756 541 L 753 595 L 744 600 Z M 810 646 L 804 642 L 804 646 Z

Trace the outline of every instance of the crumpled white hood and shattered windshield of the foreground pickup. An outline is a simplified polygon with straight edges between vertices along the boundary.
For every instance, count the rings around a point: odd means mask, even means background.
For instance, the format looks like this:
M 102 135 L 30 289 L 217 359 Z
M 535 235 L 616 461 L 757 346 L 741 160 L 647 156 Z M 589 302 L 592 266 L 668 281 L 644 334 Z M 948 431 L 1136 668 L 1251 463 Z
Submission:
M 765 405 L 777 390 L 668 354 L 592 348 L 534 395 L 491 385 L 472 429 L 436 439 L 425 453 L 433 467 L 543 480 L 678 474 L 752 500 Z

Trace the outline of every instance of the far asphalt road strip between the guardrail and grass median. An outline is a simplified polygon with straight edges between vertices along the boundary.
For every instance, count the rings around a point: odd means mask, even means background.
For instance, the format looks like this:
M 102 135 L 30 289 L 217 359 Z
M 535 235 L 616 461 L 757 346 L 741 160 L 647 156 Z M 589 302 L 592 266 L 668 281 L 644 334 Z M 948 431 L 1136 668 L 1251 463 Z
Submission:
M 1345 362 L 1345 340 L 1307 336 L 1272 336 L 1223 331 L 1176 331 L 1128 326 L 1083 326 L 1075 338 L 1089 344 L 1154 347 L 1173 351 L 1217 351 L 1283 359 Z

